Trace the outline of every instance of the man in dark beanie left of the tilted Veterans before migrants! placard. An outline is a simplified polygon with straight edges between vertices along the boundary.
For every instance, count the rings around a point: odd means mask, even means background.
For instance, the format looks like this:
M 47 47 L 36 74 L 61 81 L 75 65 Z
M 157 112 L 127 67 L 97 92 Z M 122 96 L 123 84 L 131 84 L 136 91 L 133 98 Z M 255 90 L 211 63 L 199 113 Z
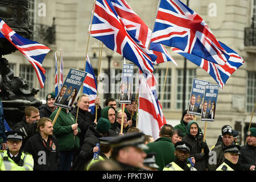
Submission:
M 56 109 L 56 106 L 53 105 L 55 102 L 55 92 L 48 93 L 46 96 L 46 104 L 40 106 L 39 114 L 40 118 L 46 117 L 49 118 L 52 112 Z

